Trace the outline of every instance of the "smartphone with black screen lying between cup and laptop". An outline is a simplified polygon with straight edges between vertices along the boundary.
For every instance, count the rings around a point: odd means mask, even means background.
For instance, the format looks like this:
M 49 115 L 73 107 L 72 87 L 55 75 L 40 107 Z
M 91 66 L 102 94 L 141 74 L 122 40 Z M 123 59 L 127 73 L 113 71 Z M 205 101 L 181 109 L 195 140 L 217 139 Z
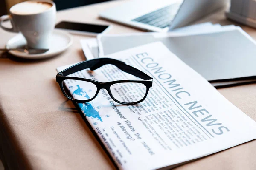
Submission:
M 66 30 L 71 34 L 97 36 L 97 34 L 106 33 L 111 26 L 61 21 L 55 26 L 55 28 Z

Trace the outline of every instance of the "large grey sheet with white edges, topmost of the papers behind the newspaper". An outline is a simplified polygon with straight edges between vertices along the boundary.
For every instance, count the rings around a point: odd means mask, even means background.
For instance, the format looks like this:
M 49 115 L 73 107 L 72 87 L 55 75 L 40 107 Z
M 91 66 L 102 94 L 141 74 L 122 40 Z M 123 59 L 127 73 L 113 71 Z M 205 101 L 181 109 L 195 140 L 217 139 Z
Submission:
M 170 51 L 208 81 L 231 81 L 256 75 L 256 42 L 235 26 L 205 34 L 105 35 L 99 37 L 98 44 L 99 49 L 102 48 L 100 51 L 104 51 L 103 55 L 108 55 L 157 41 L 163 42 Z

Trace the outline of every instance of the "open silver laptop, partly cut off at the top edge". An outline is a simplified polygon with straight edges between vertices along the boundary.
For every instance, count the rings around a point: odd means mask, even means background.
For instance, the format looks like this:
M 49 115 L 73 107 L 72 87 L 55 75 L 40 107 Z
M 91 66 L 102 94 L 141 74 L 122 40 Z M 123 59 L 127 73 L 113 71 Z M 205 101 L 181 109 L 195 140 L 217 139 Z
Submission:
M 226 5 L 227 0 L 130 0 L 99 16 L 146 31 L 167 32 Z

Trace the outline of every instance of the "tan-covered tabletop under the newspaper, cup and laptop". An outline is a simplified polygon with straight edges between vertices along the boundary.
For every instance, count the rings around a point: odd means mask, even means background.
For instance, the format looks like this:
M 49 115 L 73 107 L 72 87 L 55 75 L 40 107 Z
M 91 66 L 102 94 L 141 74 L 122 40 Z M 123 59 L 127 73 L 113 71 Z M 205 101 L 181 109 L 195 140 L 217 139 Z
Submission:
M 98 13 L 125 0 L 67 9 L 57 13 L 57 22 L 112 24 L 110 34 L 139 30 L 98 18 Z M 198 22 L 236 24 L 224 17 L 224 11 Z M 256 39 L 256 30 L 241 26 Z M 0 30 L 0 45 L 14 34 Z M 0 58 L 0 157 L 8 169 L 114 169 L 99 142 L 76 113 L 72 102 L 55 82 L 55 68 L 84 60 L 79 40 L 58 57 L 40 61 L 8 55 Z M 256 120 L 256 85 L 219 89 L 230 102 Z M 177 167 L 177 170 L 252 170 L 256 169 L 256 140 Z

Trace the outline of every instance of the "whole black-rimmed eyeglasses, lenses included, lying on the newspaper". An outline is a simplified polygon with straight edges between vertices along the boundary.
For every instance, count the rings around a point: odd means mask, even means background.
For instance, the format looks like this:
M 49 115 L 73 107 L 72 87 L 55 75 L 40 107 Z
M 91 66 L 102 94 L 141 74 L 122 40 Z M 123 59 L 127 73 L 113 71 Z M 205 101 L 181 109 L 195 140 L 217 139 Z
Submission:
M 87 68 L 93 71 L 106 64 L 115 65 L 120 70 L 143 80 L 98 82 L 93 79 L 67 76 Z M 153 78 L 137 68 L 125 64 L 125 62 L 111 58 L 99 58 L 80 62 L 59 72 L 56 76 L 56 81 L 60 85 L 62 93 L 68 99 L 77 102 L 90 102 L 96 98 L 100 89 L 104 88 L 115 102 L 123 105 L 135 105 L 146 98 L 149 88 L 152 87 Z M 70 90 L 71 92 L 67 91 L 67 87 L 69 90 L 72 89 Z

